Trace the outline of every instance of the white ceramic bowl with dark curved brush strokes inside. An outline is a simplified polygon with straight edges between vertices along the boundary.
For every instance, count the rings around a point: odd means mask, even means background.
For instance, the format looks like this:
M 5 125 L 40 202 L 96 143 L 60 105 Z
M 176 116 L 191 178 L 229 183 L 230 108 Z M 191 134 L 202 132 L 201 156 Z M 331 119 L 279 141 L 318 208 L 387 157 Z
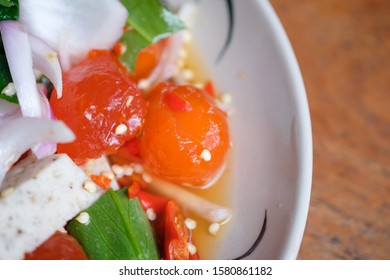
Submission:
M 234 217 L 213 244 L 214 257 L 295 259 L 309 208 L 312 136 L 293 50 L 268 1 L 196 2 L 197 47 L 234 104 L 228 170 Z

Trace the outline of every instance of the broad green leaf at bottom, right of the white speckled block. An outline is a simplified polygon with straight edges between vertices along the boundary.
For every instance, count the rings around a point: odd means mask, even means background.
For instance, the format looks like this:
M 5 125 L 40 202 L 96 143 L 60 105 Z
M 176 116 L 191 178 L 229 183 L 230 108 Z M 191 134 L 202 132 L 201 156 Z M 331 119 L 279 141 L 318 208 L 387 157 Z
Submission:
M 84 212 L 89 223 L 73 219 L 66 229 L 90 259 L 158 259 L 150 223 L 138 198 L 128 199 L 127 189 L 108 190 Z

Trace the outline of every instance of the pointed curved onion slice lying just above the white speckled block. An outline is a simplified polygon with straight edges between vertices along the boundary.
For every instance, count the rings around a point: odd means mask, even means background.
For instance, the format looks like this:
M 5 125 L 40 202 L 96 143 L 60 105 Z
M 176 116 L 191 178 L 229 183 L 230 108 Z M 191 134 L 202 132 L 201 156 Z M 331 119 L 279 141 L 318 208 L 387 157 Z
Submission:
M 0 126 L 0 185 L 20 156 L 38 143 L 67 143 L 74 139 L 62 121 L 22 117 L 4 123 Z

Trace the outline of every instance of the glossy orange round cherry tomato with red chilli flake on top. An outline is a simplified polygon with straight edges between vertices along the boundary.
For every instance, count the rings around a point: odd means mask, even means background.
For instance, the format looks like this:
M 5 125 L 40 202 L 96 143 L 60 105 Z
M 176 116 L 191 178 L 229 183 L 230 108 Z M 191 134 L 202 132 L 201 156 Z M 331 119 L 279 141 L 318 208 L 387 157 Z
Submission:
M 161 83 L 147 97 L 140 156 L 157 176 L 198 186 L 212 179 L 226 160 L 226 113 L 204 90 Z

